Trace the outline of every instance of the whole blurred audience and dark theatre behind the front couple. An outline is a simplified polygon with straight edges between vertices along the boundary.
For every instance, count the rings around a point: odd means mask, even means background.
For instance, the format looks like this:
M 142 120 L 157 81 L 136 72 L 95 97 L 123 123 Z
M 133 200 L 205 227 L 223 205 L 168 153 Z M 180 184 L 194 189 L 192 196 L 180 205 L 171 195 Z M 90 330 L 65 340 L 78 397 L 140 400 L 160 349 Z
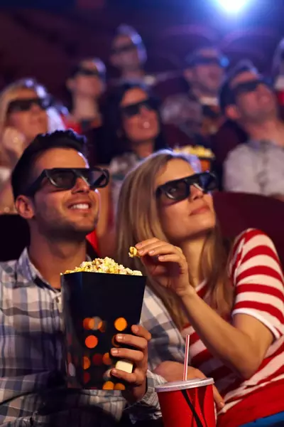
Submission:
M 1 214 L 14 213 L 23 149 L 67 128 L 111 174 L 90 237 L 103 255 L 124 177 L 158 149 L 196 154 L 220 191 L 284 201 L 283 1 L 12 3 L 0 13 Z

